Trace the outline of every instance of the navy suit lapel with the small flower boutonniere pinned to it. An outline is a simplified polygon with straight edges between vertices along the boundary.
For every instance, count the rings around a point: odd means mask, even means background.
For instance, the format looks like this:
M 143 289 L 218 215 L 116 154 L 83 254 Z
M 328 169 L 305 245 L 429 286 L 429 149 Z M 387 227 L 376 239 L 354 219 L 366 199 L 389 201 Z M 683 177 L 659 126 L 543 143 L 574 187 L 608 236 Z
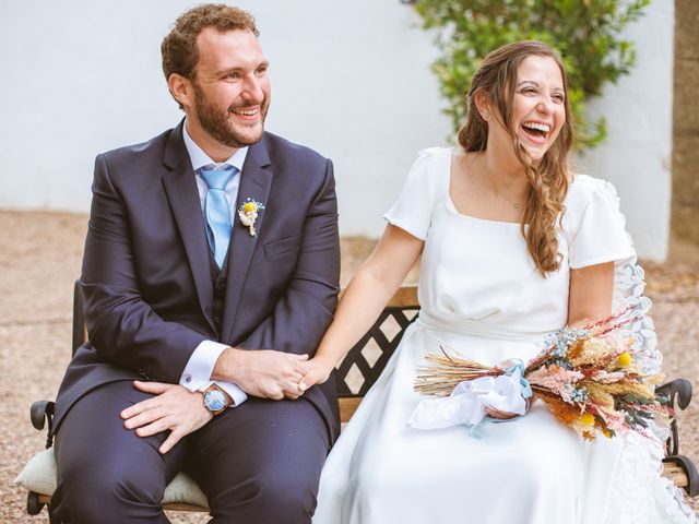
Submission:
M 248 150 L 248 155 L 240 174 L 240 189 L 238 190 L 238 203 L 236 210 L 248 200 L 252 199 L 269 207 L 268 196 L 272 187 L 272 172 L 265 167 L 270 166 L 264 139 Z M 228 251 L 228 273 L 226 285 L 226 299 L 223 317 L 222 341 L 227 341 L 233 332 L 234 319 L 242 298 L 242 290 L 248 277 L 252 253 L 263 231 L 264 216 L 268 210 L 258 214 L 254 223 L 256 236 L 250 235 L 248 228 L 242 225 L 237 216 L 234 217 L 230 248 Z

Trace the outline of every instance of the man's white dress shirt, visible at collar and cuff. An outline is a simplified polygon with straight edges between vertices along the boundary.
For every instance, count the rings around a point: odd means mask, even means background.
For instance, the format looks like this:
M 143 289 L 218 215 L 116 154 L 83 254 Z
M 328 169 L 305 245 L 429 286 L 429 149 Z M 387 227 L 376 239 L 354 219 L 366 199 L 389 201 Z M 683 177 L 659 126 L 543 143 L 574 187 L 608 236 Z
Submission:
M 206 153 L 204 153 L 204 151 L 191 139 L 187 132 L 187 121 L 185 121 L 185 126 L 182 126 L 182 138 L 185 139 L 185 147 L 187 148 L 187 153 L 189 154 L 189 158 L 192 163 L 192 168 L 194 169 L 202 213 L 209 187 L 204 179 L 199 175 L 199 169 L 206 166 L 213 166 L 214 169 L 220 169 L 226 165 L 236 168 L 235 175 L 230 178 L 225 188 L 226 200 L 228 201 L 228 207 L 230 209 L 230 223 L 234 224 L 237 216 L 236 202 L 238 199 L 238 188 L 240 187 L 240 171 L 242 171 L 242 164 L 248 155 L 248 147 L 240 147 L 233 154 L 233 156 L 230 156 L 230 158 L 225 162 L 217 163 L 212 160 L 209 155 L 206 155 Z M 202 235 L 204 235 L 204 231 L 202 231 Z M 199 344 L 187 361 L 185 371 L 182 371 L 182 376 L 179 379 L 180 385 L 194 392 L 204 391 L 211 384 L 215 383 L 230 395 L 234 406 L 242 404 L 247 400 L 248 395 L 246 395 L 240 388 L 232 382 L 211 380 L 211 373 L 213 372 L 216 360 L 227 347 L 229 346 L 214 341 L 203 341 Z

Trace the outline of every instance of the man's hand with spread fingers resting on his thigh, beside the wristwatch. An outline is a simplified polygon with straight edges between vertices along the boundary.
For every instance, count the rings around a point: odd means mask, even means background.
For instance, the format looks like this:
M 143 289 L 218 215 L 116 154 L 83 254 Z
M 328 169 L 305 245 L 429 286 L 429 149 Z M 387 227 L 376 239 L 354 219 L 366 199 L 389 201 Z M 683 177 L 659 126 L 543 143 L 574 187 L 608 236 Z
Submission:
M 177 384 L 134 381 L 137 390 L 152 393 L 153 398 L 141 401 L 121 412 L 123 426 L 134 429 L 139 437 L 150 437 L 170 430 L 158 451 L 167 453 L 182 437 L 198 430 L 213 418 L 204 407 L 203 394 L 190 392 Z

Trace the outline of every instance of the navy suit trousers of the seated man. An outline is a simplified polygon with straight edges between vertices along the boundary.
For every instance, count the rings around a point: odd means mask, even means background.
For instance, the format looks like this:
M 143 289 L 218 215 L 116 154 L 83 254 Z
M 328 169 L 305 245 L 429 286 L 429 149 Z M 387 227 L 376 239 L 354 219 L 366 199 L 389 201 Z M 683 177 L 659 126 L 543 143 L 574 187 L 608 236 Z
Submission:
M 119 417 L 150 396 L 130 381 L 111 382 L 66 416 L 56 436 L 59 522 L 167 523 L 161 500 L 182 469 L 206 495 L 213 523 L 310 523 L 330 449 L 310 402 L 251 397 L 162 455 L 165 433 L 140 438 Z

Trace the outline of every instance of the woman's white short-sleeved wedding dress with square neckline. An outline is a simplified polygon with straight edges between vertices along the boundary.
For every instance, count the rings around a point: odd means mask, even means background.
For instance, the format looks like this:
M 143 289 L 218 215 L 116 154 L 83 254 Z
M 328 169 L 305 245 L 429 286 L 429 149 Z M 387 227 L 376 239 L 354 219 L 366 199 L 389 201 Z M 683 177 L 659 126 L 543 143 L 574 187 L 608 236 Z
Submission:
M 422 152 L 386 215 L 425 241 L 422 309 L 332 449 L 313 523 L 694 522 L 657 473 L 660 440 L 585 444 L 541 402 L 514 421 L 484 426 L 481 438 L 464 426 L 407 427 L 423 398 L 413 381 L 426 353 L 442 344 L 487 365 L 526 362 L 566 324 L 571 267 L 615 261 L 615 301 L 649 307 L 608 182 L 577 176 L 570 184 L 558 234 L 562 263 L 544 278 L 519 224 L 457 212 L 450 165 L 451 150 Z M 648 322 L 633 336 L 660 362 Z

